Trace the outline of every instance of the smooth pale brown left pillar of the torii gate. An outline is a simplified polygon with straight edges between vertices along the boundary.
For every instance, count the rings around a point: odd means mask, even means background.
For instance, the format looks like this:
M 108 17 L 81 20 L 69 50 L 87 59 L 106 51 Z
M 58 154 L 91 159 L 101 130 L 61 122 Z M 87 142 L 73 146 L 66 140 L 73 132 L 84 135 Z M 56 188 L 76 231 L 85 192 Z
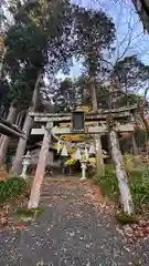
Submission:
M 36 167 L 35 176 L 34 176 L 34 181 L 31 190 L 31 196 L 28 204 L 28 208 L 36 208 L 39 206 L 41 185 L 42 185 L 44 173 L 45 173 L 46 160 L 49 155 L 49 146 L 51 142 L 51 134 L 49 132 L 49 129 L 51 127 L 52 127 L 52 123 L 47 123 L 43 142 L 42 142 L 42 147 L 40 151 L 39 164 Z

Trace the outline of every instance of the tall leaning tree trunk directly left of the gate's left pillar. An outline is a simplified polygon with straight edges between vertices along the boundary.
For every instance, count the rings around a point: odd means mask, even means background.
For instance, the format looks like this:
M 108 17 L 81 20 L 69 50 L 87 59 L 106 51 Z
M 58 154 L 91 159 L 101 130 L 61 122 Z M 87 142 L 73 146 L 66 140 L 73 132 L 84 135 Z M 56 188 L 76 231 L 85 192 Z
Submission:
M 33 96 L 32 96 L 32 104 L 29 109 L 29 112 L 35 112 L 36 108 L 38 108 L 38 101 L 39 101 L 39 83 L 41 81 L 42 78 L 42 73 L 40 71 L 36 82 L 35 82 L 35 86 L 34 86 L 34 92 L 33 92 Z M 29 113 L 25 116 L 25 121 L 24 121 L 24 125 L 23 125 L 23 132 L 25 133 L 25 140 L 20 137 L 19 143 L 18 143 L 18 147 L 17 147 L 17 152 L 15 152 L 15 157 L 13 161 L 13 165 L 12 165 L 12 172 L 15 174 L 21 174 L 22 172 L 22 161 L 23 161 L 23 155 L 25 152 L 25 147 L 26 147 L 26 141 L 28 141 L 28 136 L 30 133 L 30 130 L 32 127 L 32 123 L 33 120 L 32 117 L 29 115 Z

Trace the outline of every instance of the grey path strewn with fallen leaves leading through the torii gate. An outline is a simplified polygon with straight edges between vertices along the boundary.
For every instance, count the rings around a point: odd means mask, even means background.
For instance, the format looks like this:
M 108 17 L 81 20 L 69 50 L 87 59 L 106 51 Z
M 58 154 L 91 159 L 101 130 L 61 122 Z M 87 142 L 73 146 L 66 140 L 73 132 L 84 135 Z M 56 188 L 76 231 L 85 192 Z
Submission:
M 41 206 L 45 212 L 26 231 L 0 233 L 0 266 L 127 266 L 140 256 L 149 265 L 89 184 L 45 181 Z

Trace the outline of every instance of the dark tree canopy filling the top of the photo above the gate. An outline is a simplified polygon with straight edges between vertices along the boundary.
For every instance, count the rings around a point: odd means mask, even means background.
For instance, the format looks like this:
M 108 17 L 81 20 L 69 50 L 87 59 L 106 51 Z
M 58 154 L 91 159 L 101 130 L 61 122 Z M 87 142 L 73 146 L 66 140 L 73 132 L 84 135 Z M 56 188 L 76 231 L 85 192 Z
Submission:
M 52 78 L 51 83 L 54 83 L 53 75 L 60 70 L 68 73 L 75 58 L 82 60 L 85 66 L 87 72 L 85 79 L 83 76 L 76 82 L 77 84 L 65 80 L 57 85 L 57 90 L 55 90 L 55 84 L 54 89 L 50 86 L 50 93 L 44 90 L 45 94 L 53 93 L 55 104 L 60 105 L 61 110 L 74 109 L 79 100 L 81 103 L 88 104 L 92 76 L 95 78 L 94 83 L 100 106 L 109 106 L 109 90 L 104 88 L 97 78 L 110 78 L 104 55 L 106 50 L 108 54 L 114 50 L 113 43 L 116 34 L 111 18 L 102 10 L 81 8 L 77 4 L 71 4 L 68 0 L 25 2 L 10 0 L 9 8 L 14 21 L 6 32 L 7 53 L 3 76 L 9 78 L 10 90 L 7 100 L 15 99 L 21 108 L 29 108 L 39 71 L 41 69 L 43 72 L 46 71 L 46 76 Z M 145 66 L 134 55 L 117 62 L 111 75 L 116 76 L 115 80 L 120 76 L 123 89 L 126 82 L 127 88 L 132 86 L 135 82 L 140 85 L 148 79 L 148 66 Z M 43 88 L 45 89 L 45 84 Z M 4 90 L 2 93 L 4 95 Z M 4 104 L 9 104 L 9 101 Z M 125 95 L 119 106 L 136 101 L 138 99 L 134 95 L 129 95 L 129 100 Z

